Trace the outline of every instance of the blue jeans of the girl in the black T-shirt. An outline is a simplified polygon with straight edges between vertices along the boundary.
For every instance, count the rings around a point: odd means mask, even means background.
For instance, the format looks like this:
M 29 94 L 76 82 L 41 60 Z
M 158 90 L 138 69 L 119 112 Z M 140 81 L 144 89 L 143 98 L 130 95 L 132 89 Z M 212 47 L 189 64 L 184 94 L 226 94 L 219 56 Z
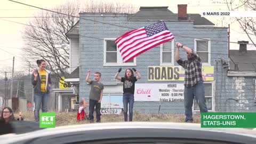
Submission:
M 125 93 L 123 95 L 123 104 L 124 104 L 124 121 L 128 120 L 128 103 L 129 103 L 129 121 L 132 121 L 132 113 L 133 113 L 133 103 L 134 103 L 134 95 L 131 93 Z

